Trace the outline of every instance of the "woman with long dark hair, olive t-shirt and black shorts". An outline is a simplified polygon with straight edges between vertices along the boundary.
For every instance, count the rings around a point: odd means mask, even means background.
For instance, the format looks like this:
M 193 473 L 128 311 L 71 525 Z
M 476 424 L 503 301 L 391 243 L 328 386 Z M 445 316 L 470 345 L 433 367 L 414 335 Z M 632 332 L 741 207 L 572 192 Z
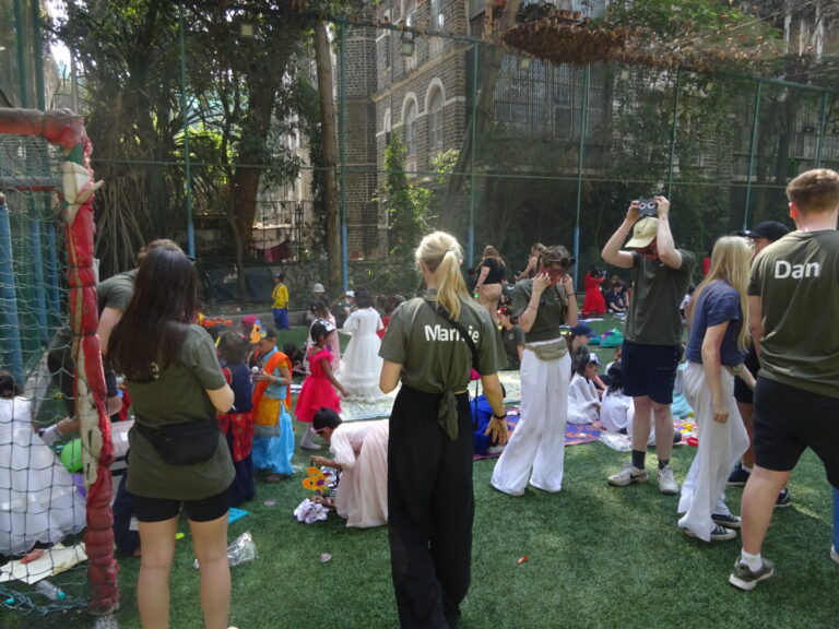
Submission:
M 126 377 L 137 423 L 129 432 L 128 491 L 142 546 L 137 584 L 144 628 L 169 626 L 169 573 L 181 506 L 200 566 L 204 627 L 227 627 L 227 511 L 234 478 L 218 429 L 234 393 L 210 334 L 192 324 L 198 278 L 174 244 L 150 251 L 114 329 L 108 358 Z

